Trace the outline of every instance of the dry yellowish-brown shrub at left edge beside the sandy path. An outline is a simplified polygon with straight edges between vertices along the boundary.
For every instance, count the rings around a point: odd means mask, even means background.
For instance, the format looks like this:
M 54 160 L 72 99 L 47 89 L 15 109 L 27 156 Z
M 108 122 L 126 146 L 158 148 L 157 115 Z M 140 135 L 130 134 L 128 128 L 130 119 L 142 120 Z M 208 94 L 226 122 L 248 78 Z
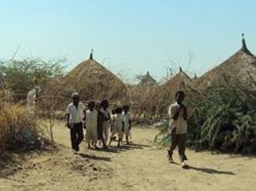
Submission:
M 39 134 L 37 120 L 24 107 L 0 102 L 0 150 L 39 148 Z

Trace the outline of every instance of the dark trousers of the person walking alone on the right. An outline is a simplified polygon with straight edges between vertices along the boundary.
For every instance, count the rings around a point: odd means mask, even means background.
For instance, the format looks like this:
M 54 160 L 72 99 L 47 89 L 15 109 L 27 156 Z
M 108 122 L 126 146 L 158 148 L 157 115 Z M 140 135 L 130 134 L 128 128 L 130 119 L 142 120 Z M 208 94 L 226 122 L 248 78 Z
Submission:
M 178 146 L 179 158 L 181 162 L 187 160 L 187 156 L 185 154 L 186 140 L 187 134 L 171 134 L 171 146 L 170 150 L 168 150 L 169 155 L 171 156 L 173 154 L 173 150 L 175 150 L 176 146 Z

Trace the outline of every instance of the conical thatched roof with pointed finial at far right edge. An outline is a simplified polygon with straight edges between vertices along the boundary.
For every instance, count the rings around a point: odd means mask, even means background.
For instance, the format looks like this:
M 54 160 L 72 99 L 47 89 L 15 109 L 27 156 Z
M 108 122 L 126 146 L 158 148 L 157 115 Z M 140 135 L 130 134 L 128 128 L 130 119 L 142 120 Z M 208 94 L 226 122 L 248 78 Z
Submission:
M 242 38 L 242 48 L 222 64 L 200 76 L 195 82 L 195 87 L 221 88 L 235 82 L 252 84 L 250 75 L 256 80 L 256 57 L 247 49 L 246 41 Z

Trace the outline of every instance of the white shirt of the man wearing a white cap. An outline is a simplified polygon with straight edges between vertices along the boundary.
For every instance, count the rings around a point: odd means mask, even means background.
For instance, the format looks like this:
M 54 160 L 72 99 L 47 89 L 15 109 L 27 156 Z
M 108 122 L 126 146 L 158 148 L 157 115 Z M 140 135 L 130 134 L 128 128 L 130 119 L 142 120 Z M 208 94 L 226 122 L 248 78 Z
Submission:
M 69 123 L 81 123 L 84 117 L 85 106 L 79 102 L 76 107 L 73 103 L 70 103 L 67 107 L 67 114 L 69 114 Z

